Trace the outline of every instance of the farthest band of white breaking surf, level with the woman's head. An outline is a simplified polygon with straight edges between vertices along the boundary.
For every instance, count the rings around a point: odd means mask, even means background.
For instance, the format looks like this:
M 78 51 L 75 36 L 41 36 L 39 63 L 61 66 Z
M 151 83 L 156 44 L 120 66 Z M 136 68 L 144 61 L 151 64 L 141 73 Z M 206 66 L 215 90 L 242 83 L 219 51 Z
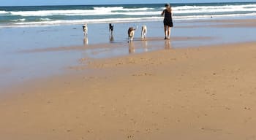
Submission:
M 0 11 L 0 14 L 26 16 L 83 16 L 83 15 L 159 15 L 162 9 L 154 8 L 124 8 L 124 7 L 94 7 L 93 9 L 40 10 L 40 11 Z M 256 12 L 256 4 L 224 5 L 224 6 L 181 6 L 173 7 L 174 14 L 197 14 L 216 12 Z

